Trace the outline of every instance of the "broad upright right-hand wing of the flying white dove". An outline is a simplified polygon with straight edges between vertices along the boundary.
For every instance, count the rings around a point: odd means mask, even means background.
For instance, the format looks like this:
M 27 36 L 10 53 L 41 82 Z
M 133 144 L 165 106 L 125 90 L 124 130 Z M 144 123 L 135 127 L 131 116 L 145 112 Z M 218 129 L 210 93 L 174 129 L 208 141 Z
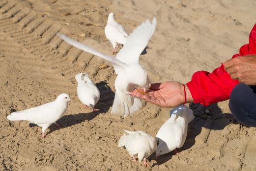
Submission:
M 138 26 L 132 34 L 130 34 L 123 48 L 116 55 L 115 59 L 130 64 L 139 63 L 139 58 L 146 47 L 149 39 L 152 37 L 156 28 L 156 18 L 154 17 L 152 23 L 149 20 L 143 22 Z

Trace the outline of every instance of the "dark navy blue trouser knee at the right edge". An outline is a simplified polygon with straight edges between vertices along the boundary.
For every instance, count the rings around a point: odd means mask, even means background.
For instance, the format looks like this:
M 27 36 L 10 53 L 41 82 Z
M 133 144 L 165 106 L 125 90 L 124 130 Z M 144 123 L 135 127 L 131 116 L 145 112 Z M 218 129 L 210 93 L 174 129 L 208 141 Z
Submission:
M 229 109 L 244 126 L 256 127 L 256 86 L 236 85 L 229 98 Z

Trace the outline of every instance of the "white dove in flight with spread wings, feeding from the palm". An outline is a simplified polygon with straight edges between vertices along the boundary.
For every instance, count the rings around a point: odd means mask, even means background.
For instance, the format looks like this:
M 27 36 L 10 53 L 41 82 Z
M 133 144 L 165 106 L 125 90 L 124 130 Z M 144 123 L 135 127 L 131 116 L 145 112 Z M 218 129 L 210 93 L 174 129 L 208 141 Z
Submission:
M 138 85 L 142 86 L 144 91 L 150 86 L 147 72 L 139 64 L 139 58 L 148 40 L 153 35 L 155 27 L 155 17 L 152 23 L 149 20 L 143 22 L 133 31 L 115 58 L 104 55 L 62 34 L 58 33 L 58 36 L 81 50 L 109 61 L 114 66 L 117 77 L 114 83 L 115 96 L 111 113 L 126 117 L 142 107 L 142 101 L 129 95 L 127 92 L 138 88 Z

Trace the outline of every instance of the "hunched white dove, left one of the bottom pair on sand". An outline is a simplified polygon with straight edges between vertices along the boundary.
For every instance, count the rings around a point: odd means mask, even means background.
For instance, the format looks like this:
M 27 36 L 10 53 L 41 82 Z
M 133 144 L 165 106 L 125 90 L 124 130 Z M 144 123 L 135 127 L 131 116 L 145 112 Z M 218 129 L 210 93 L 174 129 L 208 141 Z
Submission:
M 124 133 L 118 141 L 118 147 L 125 146 L 126 150 L 133 157 L 133 160 L 136 162 L 134 155 L 138 154 L 138 159 L 140 164 L 142 163 L 145 167 L 150 165 L 146 162 L 146 158 L 149 157 L 156 150 L 156 140 L 149 134 L 137 130 L 129 131 L 123 129 Z

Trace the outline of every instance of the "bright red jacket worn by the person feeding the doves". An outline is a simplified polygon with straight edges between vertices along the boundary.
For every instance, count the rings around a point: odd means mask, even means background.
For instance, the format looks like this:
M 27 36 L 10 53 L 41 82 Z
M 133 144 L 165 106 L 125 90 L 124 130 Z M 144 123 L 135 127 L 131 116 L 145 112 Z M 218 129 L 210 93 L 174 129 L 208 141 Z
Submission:
M 256 54 L 256 24 L 249 35 L 249 43 L 240 47 L 239 54 L 233 55 L 232 58 L 250 54 Z M 207 106 L 229 99 L 231 90 L 238 83 L 238 80 L 230 78 L 222 64 L 211 73 L 206 71 L 195 72 L 187 85 L 194 103 Z

